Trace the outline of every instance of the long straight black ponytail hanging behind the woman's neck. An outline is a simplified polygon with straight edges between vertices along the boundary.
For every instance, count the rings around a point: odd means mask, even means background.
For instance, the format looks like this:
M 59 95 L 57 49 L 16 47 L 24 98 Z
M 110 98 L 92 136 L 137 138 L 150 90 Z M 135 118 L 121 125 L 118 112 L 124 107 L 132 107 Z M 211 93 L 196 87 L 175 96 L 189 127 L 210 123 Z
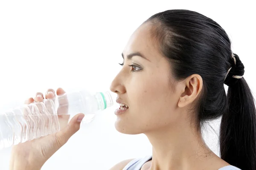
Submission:
M 238 56 L 236 60 L 239 60 Z M 227 77 L 229 80 L 225 81 L 229 85 L 228 109 L 221 119 L 221 159 L 241 170 L 256 170 L 256 109 L 253 94 L 245 79 L 235 78 L 232 76 L 234 74 L 231 73 Z M 231 79 L 235 82 L 230 83 Z

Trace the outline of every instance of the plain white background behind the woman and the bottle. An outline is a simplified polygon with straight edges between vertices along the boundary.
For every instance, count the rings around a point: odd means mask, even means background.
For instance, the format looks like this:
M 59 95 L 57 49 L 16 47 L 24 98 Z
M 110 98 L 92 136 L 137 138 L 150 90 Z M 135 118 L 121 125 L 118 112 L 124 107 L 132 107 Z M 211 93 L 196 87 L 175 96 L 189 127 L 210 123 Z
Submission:
M 198 11 L 227 31 L 255 92 L 253 0 L 0 0 L 0 111 L 47 88 L 108 89 L 133 31 L 151 15 L 177 8 Z M 42 170 L 103 170 L 151 154 L 144 135 L 116 132 L 115 109 L 82 127 Z M 212 126 L 218 132 L 219 121 Z M 204 134 L 218 154 L 217 134 L 210 128 Z M 0 170 L 8 170 L 10 150 L 0 150 Z

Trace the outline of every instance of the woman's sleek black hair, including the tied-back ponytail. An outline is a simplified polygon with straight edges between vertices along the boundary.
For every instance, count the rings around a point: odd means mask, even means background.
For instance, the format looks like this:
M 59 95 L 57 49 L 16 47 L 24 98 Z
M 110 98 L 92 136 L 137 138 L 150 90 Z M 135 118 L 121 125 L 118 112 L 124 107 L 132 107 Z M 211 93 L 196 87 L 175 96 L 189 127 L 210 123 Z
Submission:
M 163 11 L 144 23 L 152 24 L 152 36 L 157 38 L 160 52 L 170 61 L 175 79 L 182 80 L 192 74 L 202 77 L 197 125 L 201 128 L 204 122 L 222 116 L 221 159 L 242 170 L 255 170 L 254 99 L 244 78 L 233 77 L 242 76 L 244 66 L 236 54 L 237 62 L 234 61 L 224 29 L 212 19 L 189 10 Z M 224 83 L 229 85 L 227 95 Z

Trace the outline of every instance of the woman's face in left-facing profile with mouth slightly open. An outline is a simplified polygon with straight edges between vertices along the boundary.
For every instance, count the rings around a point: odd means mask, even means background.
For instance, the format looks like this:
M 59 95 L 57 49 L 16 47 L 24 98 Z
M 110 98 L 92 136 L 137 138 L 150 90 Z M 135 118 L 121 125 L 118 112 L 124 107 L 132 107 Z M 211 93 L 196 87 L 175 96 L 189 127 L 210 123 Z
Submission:
M 157 50 L 150 35 L 150 24 L 143 24 L 130 37 L 123 53 L 123 66 L 111 84 L 117 101 L 128 109 L 117 111 L 116 130 L 126 134 L 147 133 L 175 125 L 179 119 L 178 82 L 170 65 Z

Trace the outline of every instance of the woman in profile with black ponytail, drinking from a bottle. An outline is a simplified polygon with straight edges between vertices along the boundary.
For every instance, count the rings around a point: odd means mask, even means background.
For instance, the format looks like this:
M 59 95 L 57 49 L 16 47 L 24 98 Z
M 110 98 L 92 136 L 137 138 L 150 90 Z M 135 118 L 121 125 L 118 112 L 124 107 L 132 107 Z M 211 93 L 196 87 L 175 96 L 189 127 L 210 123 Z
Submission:
M 122 57 L 111 91 L 126 106 L 116 111 L 115 127 L 121 133 L 145 133 L 153 155 L 122 161 L 111 170 L 256 169 L 253 95 L 221 26 L 194 11 L 160 12 L 137 28 Z M 48 92 L 45 98 L 53 98 L 55 92 Z M 38 93 L 27 103 L 43 98 Z M 13 147 L 11 169 L 41 169 L 79 130 L 83 116 L 74 116 L 58 133 Z M 220 116 L 221 158 L 201 134 L 206 121 Z

